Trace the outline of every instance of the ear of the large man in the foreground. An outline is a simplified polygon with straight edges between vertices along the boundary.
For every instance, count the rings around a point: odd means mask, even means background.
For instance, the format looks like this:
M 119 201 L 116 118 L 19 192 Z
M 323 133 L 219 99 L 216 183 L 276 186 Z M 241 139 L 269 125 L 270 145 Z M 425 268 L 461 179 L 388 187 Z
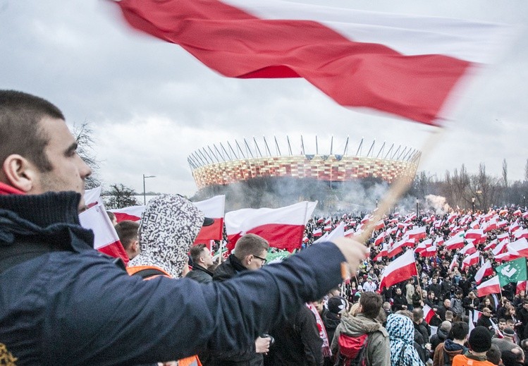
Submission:
M 2 164 L 2 173 L 4 173 L 8 185 L 29 193 L 35 189 L 39 172 L 37 167 L 25 157 L 19 154 L 11 154 Z

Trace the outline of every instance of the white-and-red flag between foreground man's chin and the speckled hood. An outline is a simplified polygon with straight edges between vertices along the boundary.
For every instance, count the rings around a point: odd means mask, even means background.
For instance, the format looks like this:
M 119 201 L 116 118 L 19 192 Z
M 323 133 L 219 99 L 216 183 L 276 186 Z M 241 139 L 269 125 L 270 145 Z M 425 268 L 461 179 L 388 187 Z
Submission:
M 128 255 L 121 245 L 116 229 L 102 204 L 94 205 L 79 214 L 79 221 L 83 228 L 94 232 L 94 249 L 111 257 L 121 258 L 128 263 Z

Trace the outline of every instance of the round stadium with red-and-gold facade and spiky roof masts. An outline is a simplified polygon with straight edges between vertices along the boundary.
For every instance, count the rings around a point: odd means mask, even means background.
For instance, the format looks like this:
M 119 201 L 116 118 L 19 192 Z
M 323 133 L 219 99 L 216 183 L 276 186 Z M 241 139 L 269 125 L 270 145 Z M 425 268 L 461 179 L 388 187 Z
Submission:
M 330 149 L 321 153 L 316 136 L 314 151 L 307 153 L 301 136 L 300 154 L 293 153 L 288 136 L 282 145 L 276 137 L 269 141 L 266 138 L 259 141 L 252 138 L 250 142 L 243 139 L 240 143 L 235 140 L 192 152 L 188 163 L 197 187 L 202 189 L 267 177 L 311 178 L 326 182 L 378 178 L 391 183 L 399 176 L 412 180 L 421 157 L 421 152 L 410 147 L 395 147 L 394 144 L 388 147 L 385 142 L 376 147 L 375 140 L 367 147 L 362 139 L 355 154 L 349 154 L 349 138 L 343 150 L 337 151 L 332 137 Z M 299 145 L 295 143 L 294 146 Z M 367 148 L 367 154 L 363 154 Z

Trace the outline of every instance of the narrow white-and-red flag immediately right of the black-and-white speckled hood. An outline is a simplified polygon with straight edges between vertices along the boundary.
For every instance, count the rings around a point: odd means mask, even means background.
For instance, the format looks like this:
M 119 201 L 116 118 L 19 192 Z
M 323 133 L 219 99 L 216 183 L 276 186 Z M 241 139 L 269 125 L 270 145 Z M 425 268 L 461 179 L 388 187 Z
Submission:
M 223 238 L 223 216 L 225 214 L 226 196 L 218 195 L 209 200 L 192 202 L 209 219 L 214 219 L 214 223 L 209 226 L 202 226 L 195 243 L 209 243 L 209 240 L 222 240 Z

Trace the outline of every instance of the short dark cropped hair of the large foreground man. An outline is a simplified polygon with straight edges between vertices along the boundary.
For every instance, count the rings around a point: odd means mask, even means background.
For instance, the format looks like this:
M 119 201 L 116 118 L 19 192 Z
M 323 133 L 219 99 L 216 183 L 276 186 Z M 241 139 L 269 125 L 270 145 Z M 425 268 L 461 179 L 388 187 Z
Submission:
M 45 117 L 65 119 L 61 110 L 46 99 L 0 90 L 0 164 L 9 155 L 20 154 L 40 171 L 51 171 L 51 162 L 44 154 L 49 137 L 39 125 Z

